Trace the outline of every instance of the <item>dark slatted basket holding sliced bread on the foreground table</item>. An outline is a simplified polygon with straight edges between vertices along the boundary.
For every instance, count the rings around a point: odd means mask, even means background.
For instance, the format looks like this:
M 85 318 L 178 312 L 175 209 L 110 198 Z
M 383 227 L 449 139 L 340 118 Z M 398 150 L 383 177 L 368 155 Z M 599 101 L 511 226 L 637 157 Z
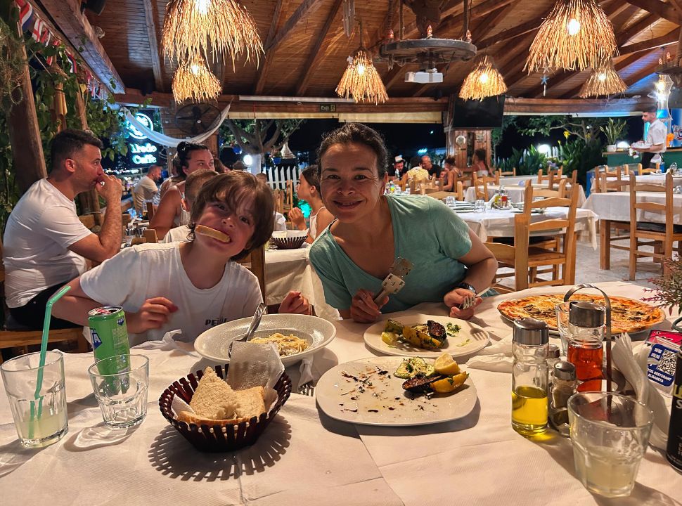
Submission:
M 215 372 L 220 378 L 227 377 L 229 365 L 216 365 Z M 171 405 L 174 396 L 180 396 L 186 403 L 191 401 L 194 391 L 203 375 L 202 371 L 189 374 L 186 378 L 181 377 L 163 391 L 159 398 L 161 414 L 175 429 L 192 443 L 197 450 L 204 452 L 226 452 L 238 450 L 250 446 L 256 442 L 264 432 L 268 424 L 278 413 L 280 408 L 291 394 L 291 380 L 285 372 L 282 373 L 274 389 L 277 391 L 277 402 L 269 413 L 263 413 L 258 418 L 253 417 L 248 422 L 231 424 L 221 427 L 219 425 L 195 425 L 179 422 L 173 417 Z

